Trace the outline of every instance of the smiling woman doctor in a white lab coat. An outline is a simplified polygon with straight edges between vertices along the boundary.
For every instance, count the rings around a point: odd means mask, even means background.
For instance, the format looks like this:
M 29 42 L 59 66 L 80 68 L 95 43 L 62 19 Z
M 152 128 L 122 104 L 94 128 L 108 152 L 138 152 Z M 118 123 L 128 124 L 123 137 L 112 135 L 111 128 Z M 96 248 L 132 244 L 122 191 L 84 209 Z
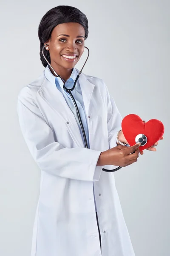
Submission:
M 85 148 L 74 104 L 63 90 L 79 73 L 74 66 L 88 37 L 87 17 L 57 6 L 42 17 L 38 35 L 45 70 L 17 100 L 23 137 L 41 169 L 31 256 L 134 256 L 113 172 L 102 168 L 136 162 L 140 144 L 116 144 L 122 118 L 115 102 L 102 79 L 82 73 L 72 93 L 88 138 Z M 45 44 L 45 56 L 64 82 L 43 58 Z M 118 139 L 126 143 L 122 131 Z

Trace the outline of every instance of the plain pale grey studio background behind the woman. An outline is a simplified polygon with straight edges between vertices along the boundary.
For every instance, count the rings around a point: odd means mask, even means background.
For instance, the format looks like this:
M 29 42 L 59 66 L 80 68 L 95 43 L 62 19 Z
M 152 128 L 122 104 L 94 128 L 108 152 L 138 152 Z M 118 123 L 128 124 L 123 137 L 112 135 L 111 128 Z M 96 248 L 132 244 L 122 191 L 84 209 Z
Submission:
M 170 255 L 168 0 L 1 1 L 0 255 L 31 251 L 40 170 L 20 132 L 16 102 L 19 90 L 44 69 L 38 25 L 58 5 L 77 7 L 87 16 L 90 57 L 83 72 L 104 79 L 122 117 L 135 113 L 164 123 L 157 152 L 145 150 L 137 163 L 114 175 L 136 256 Z

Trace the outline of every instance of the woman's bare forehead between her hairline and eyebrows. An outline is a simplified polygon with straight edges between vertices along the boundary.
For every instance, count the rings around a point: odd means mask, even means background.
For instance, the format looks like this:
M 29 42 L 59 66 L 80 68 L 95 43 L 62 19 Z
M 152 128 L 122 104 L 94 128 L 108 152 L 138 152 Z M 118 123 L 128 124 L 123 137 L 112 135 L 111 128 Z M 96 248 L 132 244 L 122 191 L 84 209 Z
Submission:
M 54 27 L 51 36 L 58 36 L 60 34 L 66 34 L 70 36 L 83 35 L 85 36 L 85 29 L 82 25 L 76 22 L 62 23 Z

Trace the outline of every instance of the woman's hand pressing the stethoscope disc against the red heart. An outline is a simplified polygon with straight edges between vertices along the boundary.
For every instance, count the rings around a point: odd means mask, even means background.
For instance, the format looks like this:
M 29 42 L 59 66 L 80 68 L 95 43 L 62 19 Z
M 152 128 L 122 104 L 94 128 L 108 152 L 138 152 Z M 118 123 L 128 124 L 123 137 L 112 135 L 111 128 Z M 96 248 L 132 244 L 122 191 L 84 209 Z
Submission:
M 125 167 L 132 163 L 135 163 L 137 162 L 137 158 L 140 154 L 140 145 L 140 143 L 137 143 L 132 147 L 119 145 L 103 151 L 99 156 L 97 166 L 114 165 Z M 133 153 L 134 151 L 135 153 Z

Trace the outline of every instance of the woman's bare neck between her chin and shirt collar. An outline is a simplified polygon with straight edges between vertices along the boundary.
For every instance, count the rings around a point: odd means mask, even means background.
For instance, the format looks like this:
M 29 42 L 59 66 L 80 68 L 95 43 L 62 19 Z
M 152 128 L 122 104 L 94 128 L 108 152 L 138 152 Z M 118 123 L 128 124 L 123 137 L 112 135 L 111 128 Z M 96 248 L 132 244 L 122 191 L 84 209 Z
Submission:
M 71 73 L 73 71 L 73 69 L 67 69 L 67 68 L 61 67 L 53 61 L 51 61 L 51 66 L 53 67 L 53 69 L 55 70 L 57 75 L 59 75 L 65 81 L 67 81 L 67 79 L 69 79 L 69 77 L 71 76 Z M 54 71 L 51 69 L 51 67 L 50 67 L 50 70 L 51 70 L 51 73 L 54 76 L 56 76 L 54 74 Z

